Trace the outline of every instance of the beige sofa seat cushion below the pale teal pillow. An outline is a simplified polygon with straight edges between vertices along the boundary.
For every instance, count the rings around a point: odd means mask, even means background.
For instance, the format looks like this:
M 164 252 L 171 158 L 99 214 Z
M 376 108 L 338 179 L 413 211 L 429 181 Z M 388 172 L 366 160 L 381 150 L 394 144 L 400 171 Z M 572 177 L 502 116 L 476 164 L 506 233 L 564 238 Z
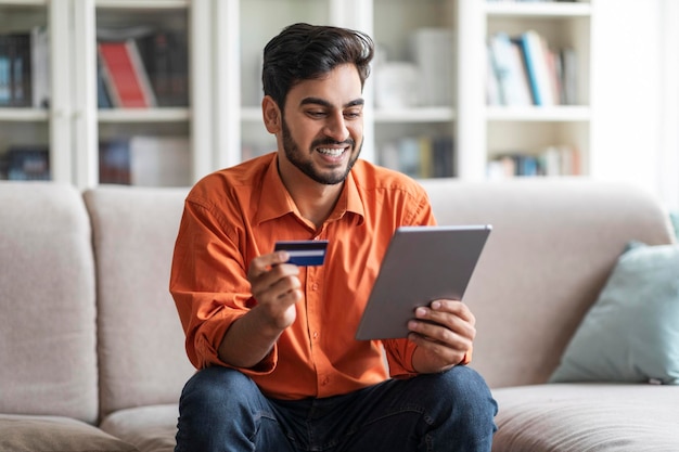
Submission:
M 679 451 L 679 387 L 549 384 L 494 389 L 492 451 Z

